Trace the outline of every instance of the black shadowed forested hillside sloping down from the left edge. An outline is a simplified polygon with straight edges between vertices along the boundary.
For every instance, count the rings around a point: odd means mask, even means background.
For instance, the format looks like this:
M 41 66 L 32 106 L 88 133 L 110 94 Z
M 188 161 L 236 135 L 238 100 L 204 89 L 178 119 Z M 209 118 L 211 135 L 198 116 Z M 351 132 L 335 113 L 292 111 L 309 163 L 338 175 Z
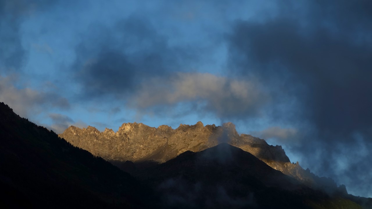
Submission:
M 1 208 L 150 208 L 128 173 L 0 103 Z M 151 199 L 151 200 L 150 200 Z

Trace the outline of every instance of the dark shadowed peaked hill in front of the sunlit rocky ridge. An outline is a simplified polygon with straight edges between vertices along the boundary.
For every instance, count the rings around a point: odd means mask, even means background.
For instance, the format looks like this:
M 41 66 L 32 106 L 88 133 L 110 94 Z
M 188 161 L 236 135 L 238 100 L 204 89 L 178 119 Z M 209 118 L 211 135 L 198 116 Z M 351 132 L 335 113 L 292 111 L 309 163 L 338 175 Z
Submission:
M 153 184 L 168 208 L 360 208 L 312 190 L 226 143 L 186 151 L 137 175 Z

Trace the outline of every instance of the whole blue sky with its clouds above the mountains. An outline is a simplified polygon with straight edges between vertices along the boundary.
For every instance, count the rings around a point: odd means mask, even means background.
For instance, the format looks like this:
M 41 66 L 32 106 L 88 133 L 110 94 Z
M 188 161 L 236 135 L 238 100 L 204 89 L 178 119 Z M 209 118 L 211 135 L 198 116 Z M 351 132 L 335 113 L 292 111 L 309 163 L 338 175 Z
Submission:
M 57 133 L 231 121 L 371 197 L 371 9 L 0 0 L 0 100 Z

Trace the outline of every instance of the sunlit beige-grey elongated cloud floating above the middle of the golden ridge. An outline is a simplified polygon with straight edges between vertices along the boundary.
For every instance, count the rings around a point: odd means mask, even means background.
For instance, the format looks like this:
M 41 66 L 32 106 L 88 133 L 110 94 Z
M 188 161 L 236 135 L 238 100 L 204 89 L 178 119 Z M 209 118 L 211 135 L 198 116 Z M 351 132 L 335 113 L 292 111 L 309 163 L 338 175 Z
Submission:
M 261 106 L 268 99 L 254 81 L 208 73 L 177 73 L 143 82 L 129 99 L 129 105 L 146 111 L 152 107 L 174 107 L 181 102 L 190 102 L 221 118 L 240 118 L 260 114 Z

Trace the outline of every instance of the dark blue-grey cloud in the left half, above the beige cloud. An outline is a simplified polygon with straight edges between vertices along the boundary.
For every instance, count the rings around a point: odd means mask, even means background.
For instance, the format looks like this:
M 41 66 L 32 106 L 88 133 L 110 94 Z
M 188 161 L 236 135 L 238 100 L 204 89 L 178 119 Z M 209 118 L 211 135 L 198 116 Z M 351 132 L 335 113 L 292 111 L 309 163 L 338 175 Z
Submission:
M 167 76 L 196 59 L 193 49 L 169 46 L 147 19 L 135 16 L 113 26 L 92 24 L 82 39 L 73 68 L 90 97 L 122 96 L 145 78 Z

